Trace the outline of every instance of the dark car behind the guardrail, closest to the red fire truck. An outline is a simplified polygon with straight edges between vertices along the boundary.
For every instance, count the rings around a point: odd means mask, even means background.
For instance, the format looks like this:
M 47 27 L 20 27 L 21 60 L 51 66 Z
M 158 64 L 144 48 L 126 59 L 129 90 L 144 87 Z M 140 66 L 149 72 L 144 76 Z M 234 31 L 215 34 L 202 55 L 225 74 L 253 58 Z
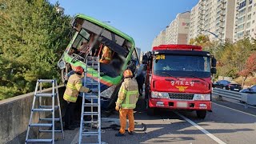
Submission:
M 219 88 L 219 89 L 225 89 L 225 90 L 234 90 L 234 91 L 242 90 L 242 86 L 237 82 L 229 82 L 226 80 L 220 80 L 220 81 L 214 82 L 213 87 Z

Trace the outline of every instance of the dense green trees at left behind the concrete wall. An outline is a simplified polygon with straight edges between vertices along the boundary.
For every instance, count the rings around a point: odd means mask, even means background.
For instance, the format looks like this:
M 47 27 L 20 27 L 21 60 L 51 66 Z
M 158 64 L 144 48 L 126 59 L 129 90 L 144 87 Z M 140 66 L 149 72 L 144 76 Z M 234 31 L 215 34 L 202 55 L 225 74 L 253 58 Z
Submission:
M 46 0 L 3 0 L 0 9 L 0 99 L 34 90 L 38 78 L 59 78 L 70 17 Z

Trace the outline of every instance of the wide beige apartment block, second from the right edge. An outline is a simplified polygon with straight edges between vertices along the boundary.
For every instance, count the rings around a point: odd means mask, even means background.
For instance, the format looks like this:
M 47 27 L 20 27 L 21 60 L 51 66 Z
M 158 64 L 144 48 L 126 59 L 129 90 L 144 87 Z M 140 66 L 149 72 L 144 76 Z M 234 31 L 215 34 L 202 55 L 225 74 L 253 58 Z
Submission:
M 189 39 L 206 34 L 221 42 L 233 41 L 235 0 L 199 0 L 190 14 Z

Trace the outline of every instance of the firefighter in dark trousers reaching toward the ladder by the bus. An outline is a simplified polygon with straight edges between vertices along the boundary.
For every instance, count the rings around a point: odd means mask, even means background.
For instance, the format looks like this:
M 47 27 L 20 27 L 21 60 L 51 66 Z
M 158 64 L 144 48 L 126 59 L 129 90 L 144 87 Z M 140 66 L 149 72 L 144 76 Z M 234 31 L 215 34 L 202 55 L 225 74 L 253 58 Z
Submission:
M 71 122 L 74 122 L 74 107 L 78 99 L 78 92 L 90 93 L 91 90 L 82 86 L 81 77 L 83 69 L 81 66 L 71 66 L 74 70 L 74 74 L 70 76 L 66 84 L 66 90 L 64 92 L 64 100 L 66 101 L 66 113 L 65 113 L 65 130 L 74 130 L 74 126 L 71 126 Z

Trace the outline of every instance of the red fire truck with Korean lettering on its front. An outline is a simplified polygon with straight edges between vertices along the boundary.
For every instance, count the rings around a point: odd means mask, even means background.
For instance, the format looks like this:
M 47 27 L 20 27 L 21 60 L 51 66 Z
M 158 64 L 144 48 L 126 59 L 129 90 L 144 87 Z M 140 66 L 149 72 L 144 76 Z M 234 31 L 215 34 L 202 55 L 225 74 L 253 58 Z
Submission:
M 143 56 L 146 68 L 147 114 L 158 108 L 196 110 L 205 118 L 211 110 L 212 74 L 216 59 L 201 46 L 160 45 Z

